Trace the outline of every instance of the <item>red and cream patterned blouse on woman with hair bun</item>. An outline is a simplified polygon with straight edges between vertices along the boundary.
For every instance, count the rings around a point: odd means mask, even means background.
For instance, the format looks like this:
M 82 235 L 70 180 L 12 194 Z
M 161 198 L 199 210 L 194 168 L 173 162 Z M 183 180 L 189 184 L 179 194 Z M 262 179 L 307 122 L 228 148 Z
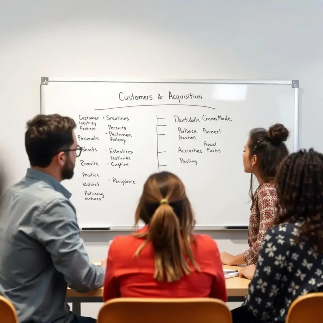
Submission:
M 248 227 L 249 249 L 243 253 L 247 265 L 255 264 L 268 228 L 276 217 L 277 192 L 271 183 L 262 183 L 254 193 Z

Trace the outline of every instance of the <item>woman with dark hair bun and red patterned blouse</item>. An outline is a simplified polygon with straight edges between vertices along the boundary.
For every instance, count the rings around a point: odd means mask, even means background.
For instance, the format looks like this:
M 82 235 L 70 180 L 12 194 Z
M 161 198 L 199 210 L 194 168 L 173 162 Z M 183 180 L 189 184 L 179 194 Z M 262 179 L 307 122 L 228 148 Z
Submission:
M 245 144 L 243 164 L 250 173 L 249 195 L 252 201 L 248 226 L 249 249 L 239 255 L 221 253 L 224 265 L 252 265 L 257 261 L 261 243 L 267 229 L 276 217 L 277 192 L 274 178 L 281 162 L 288 156 L 285 141 L 289 131 L 279 123 L 252 129 Z M 259 182 L 253 193 L 253 175 Z

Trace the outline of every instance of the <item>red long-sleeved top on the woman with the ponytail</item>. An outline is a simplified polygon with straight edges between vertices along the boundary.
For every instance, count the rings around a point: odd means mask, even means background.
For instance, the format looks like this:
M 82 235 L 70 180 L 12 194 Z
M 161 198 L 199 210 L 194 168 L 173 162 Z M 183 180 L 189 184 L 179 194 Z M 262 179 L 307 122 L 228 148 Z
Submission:
M 141 230 L 147 230 L 147 226 Z M 141 231 L 140 230 L 140 231 Z M 103 301 L 117 297 L 212 297 L 227 300 L 224 272 L 215 241 L 206 234 L 194 235 L 191 248 L 201 272 L 193 272 L 176 282 L 157 282 L 155 258 L 151 243 L 139 257 L 134 256 L 144 239 L 132 235 L 113 239 L 108 253 Z

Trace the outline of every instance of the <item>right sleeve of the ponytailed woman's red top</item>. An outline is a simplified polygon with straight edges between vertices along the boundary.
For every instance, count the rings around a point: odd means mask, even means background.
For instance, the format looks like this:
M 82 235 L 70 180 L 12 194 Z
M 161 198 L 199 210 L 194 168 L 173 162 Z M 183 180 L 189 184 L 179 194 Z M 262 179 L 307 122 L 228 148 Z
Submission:
M 221 299 L 224 302 L 226 302 L 227 301 L 227 293 L 226 293 L 226 287 L 225 287 L 223 266 L 222 266 L 218 246 L 215 241 L 213 241 L 213 242 L 215 245 L 214 246 L 214 248 L 215 248 L 214 268 L 217 272 L 217 275 L 213 276 L 210 297 L 218 298 L 218 299 Z

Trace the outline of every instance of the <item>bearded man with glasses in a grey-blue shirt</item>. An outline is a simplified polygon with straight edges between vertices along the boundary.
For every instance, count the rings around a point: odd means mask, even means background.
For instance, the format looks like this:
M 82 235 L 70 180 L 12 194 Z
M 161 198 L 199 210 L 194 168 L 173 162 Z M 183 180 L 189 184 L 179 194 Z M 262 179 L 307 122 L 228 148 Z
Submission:
M 82 151 L 75 127 L 59 115 L 30 120 L 31 167 L 1 200 L 0 295 L 13 303 L 19 323 L 96 322 L 74 316 L 66 303 L 67 286 L 81 293 L 102 286 L 105 267 L 90 263 L 71 194 L 60 183 L 73 177 Z

